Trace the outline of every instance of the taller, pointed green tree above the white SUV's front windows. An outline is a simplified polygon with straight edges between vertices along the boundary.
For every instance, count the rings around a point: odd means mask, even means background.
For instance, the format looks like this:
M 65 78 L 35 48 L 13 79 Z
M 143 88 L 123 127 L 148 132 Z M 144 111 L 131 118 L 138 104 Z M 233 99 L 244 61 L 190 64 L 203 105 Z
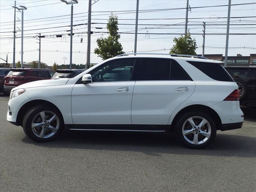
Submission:
M 100 37 L 97 39 L 98 48 L 94 49 L 94 53 L 98 54 L 103 60 L 124 54 L 122 45 L 118 42 L 118 17 L 113 14 L 109 16 L 107 23 L 109 36 L 107 38 Z

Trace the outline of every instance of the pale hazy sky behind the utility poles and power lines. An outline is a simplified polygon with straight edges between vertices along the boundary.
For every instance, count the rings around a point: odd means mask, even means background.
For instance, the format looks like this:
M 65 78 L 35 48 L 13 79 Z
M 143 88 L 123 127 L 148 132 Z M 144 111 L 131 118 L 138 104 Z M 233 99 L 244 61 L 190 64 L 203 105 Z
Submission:
M 102 61 L 94 54 L 96 40 L 107 37 L 106 23 L 112 14 L 118 16 L 119 42 L 126 53 L 134 51 L 136 0 L 92 0 L 91 63 Z M 256 3 L 255 0 L 232 0 L 231 4 Z M 26 6 L 24 10 L 24 62 L 38 60 L 39 44 L 36 38 L 41 33 L 41 62 L 52 66 L 70 62 L 71 6 L 60 0 L 16 0 L 16 6 Z M 203 22 L 206 22 L 205 54 L 225 55 L 228 0 L 189 0 L 188 30 L 196 40 L 197 54 L 202 54 Z M 0 58 L 12 63 L 14 0 L 0 1 Z M 204 6 L 218 6 L 196 8 Z M 183 8 L 183 9 L 176 9 Z M 185 31 L 186 0 L 139 0 L 137 52 L 168 53 L 174 45 L 173 38 Z M 88 0 L 78 0 L 74 4 L 73 54 L 72 63 L 86 64 Z M 224 18 L 223 18 L 224 17 Z M 228 56 L 256 54 L 256 4 L 232 5 L 230 13 L 230 35 Z M 233 18 L 232 18 L 233 17 Z M 234 18 L 236 17 L 236 18 Z M 16 53 L 15 60 L 21 60 L 21 12 L 16 11 Z M 126 24 L 126 25 L 124 25 Z M 128 24 L 128 25 L 127 25 Z M 176 25 L 173 25 L 176 24 Z M 219 24 L 219 25 L 217 25 Z M 66 27 L 65 27 L 66 26 Z M 102 28 L 102 29 L 99 29 Z M 57 38 L 56 34 L 62 34 Z M 211 35 L 214 34 L 214 35 Z M 242 35 L 237 35 L 242 34 Z M 247 34 L 247 35 L 246 35 Z M 82 43 L 81 43 L 82 38 Z M 4 62 L 1 60 L 1 62 Z

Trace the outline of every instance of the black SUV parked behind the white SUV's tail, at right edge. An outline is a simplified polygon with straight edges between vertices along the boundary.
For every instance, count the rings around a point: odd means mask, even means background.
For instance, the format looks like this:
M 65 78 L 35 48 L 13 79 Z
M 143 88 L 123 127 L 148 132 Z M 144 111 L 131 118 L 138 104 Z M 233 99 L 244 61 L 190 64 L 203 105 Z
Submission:
M 256 67 L 225 67 L 238 85 L 240 104 L 256 106 Z

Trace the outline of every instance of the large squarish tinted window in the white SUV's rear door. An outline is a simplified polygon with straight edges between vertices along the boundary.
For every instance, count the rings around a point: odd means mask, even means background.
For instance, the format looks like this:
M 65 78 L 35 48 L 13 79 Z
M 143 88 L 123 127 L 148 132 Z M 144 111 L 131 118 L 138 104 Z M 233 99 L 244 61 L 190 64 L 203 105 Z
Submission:
M 140 59 L 137 80 L 169 80 L 170 64 L 168 59 L 142 58 Z

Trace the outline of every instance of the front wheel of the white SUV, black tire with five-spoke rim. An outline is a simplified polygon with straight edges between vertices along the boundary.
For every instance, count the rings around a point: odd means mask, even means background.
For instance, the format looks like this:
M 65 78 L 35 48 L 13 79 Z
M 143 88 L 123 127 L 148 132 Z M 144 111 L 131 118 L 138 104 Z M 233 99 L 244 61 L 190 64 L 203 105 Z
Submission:
M 51 119 L 52 121 L 50 121 Z M 36 126 L 32 127 L 32 123 Z M 49 106 L 42 105 L 30 108 L 22 122 L 25 134 L 36 142 L 53 140 L 60 134 L 63 126 L 63 118 L 60 112 Z

